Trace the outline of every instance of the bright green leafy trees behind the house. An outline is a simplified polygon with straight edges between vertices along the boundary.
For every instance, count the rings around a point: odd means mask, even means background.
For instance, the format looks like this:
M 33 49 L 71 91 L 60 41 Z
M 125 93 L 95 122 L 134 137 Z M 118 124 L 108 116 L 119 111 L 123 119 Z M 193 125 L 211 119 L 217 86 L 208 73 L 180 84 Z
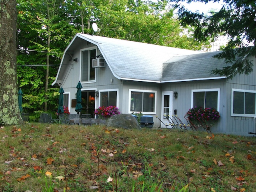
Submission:
M 167 0 L 17 0 L 17 11 L 18 87 L 30 114 L 57 108 L 58 89 L 51 83 L 63 52 L 76 33 L 92 34 L 93 22 L 100 36 L 193 50 L 208 46 L 194 40 L 192 28 L 180 27 Z

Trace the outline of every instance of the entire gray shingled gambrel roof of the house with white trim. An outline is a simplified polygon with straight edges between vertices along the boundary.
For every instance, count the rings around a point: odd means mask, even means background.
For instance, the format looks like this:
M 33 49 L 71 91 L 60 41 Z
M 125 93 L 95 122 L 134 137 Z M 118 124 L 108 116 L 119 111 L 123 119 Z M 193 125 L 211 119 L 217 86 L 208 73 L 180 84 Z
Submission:
M 222 67 L 224 64 L 223 61 L 212 58 L 216 52 L 202 53 L 102 36 L 76 34 L 64 54 L 72 52 L 82 41 L 98 47 L 113 75 L 120 80 L 176 82 L 225 78 L 210 74 L 210 70 Z M 53 84 L 58 80 L 59 74 L 64 72 L 61 68 L 62 63 Z

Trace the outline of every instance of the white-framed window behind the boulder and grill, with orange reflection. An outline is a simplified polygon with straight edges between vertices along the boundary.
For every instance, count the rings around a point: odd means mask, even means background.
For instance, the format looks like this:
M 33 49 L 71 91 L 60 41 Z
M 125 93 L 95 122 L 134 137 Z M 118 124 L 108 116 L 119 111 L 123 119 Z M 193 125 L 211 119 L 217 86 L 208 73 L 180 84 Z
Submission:
M 129 113 L 156 114 L 156 91 L 129 90 Z

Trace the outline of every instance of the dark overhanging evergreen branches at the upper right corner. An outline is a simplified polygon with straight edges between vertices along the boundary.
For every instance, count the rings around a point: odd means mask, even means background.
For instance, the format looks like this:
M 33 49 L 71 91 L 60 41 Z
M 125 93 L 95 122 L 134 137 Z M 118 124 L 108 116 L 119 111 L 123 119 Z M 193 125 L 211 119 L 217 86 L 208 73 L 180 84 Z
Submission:
M 171 2 L 220 2 L 220 0 L 170 0 Z M 218 12 L 202 14 L 191 12 L 182 5 L 178 7 L 183 26 L 194 27 L 194 38 L 198 41 L 216 40 L 218 35 L 229 37 L 223 52 L 216 57 L 224 59 L 230 66 L 212 70 L 214 74 L 233 78 L 236 74 L 252 72 L 252 61 L 247 56 L 256 55 L 256 3 L 254 0 L 223 0 L 224 6 Z

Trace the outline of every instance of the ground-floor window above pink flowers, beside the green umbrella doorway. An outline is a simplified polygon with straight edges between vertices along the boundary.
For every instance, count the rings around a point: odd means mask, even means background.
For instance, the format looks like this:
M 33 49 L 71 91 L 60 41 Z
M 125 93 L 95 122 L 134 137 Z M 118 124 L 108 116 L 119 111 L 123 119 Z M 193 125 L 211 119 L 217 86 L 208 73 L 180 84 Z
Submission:
M 118 90 L 101 90 L 100 91 L 100 106 L 117 106 L 117 91 Z

